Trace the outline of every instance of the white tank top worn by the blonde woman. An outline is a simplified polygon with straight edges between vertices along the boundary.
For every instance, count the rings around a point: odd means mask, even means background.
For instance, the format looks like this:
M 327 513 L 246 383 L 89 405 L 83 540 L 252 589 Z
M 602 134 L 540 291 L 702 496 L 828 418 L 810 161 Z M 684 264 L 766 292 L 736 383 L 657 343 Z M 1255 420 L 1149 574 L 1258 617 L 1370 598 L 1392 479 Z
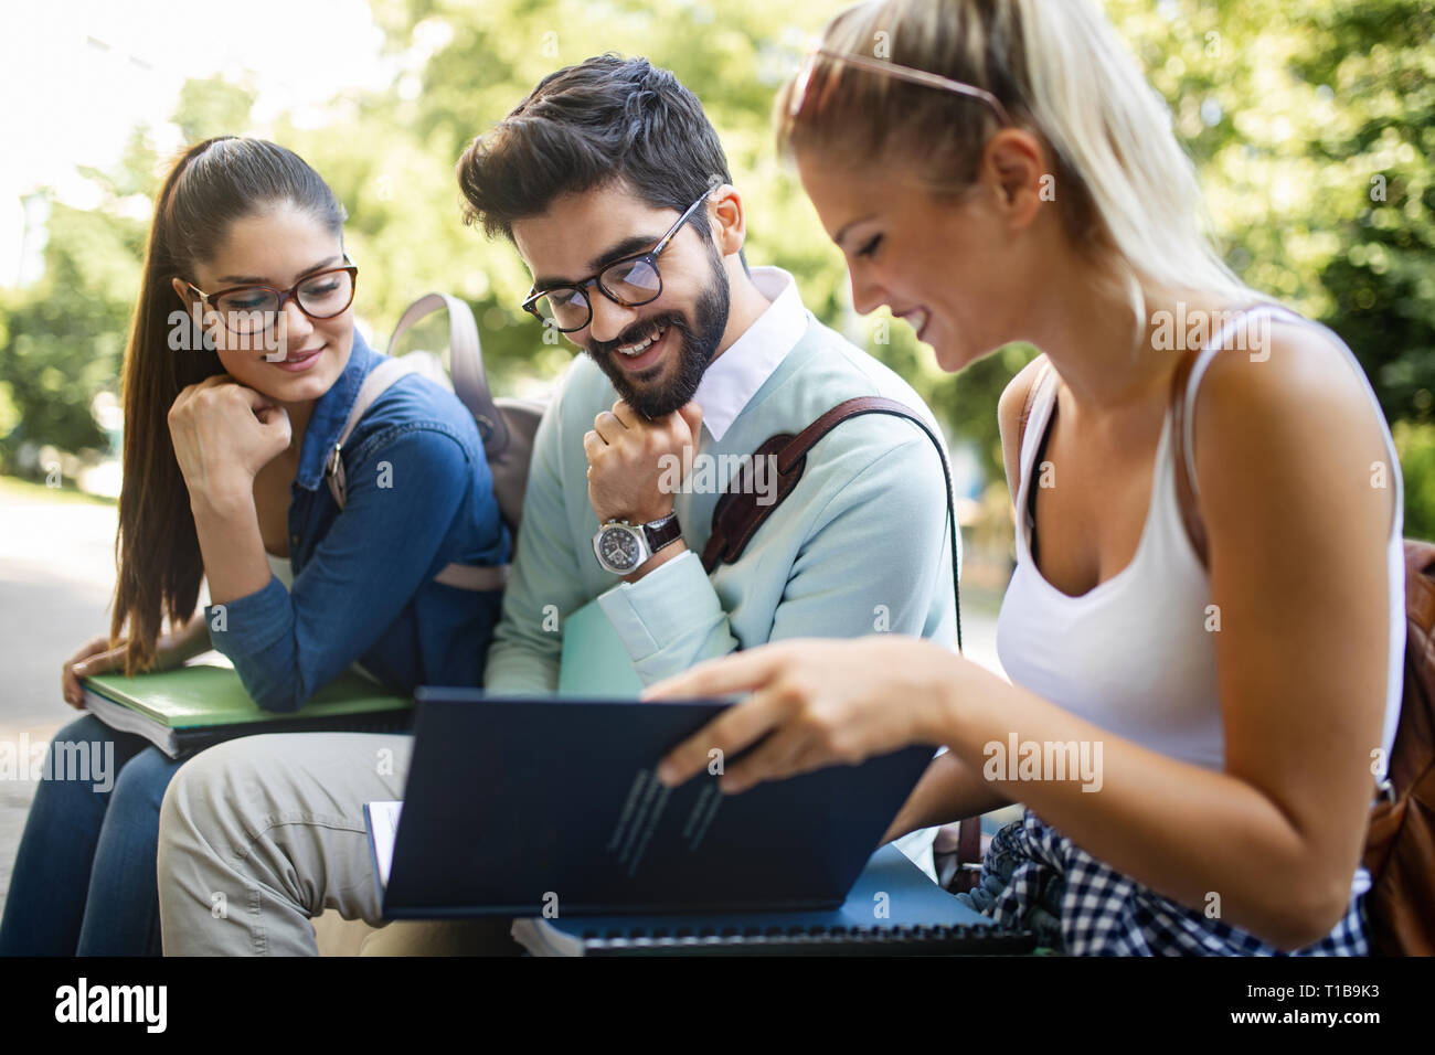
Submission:
M 1401 541 L 1405 498 L 1399 458 L 1375 392 L 1345 342 L 1326 327 L 1281 307 L 1261 306 L 1251 311 L 1279 313 L 1329 334 L 1360 376 L 1380 419 L 1389 477 L 1395 487 L 1395 524 L 1386 548 L 1391 649 L 1382 741 L 1383 759 L 1389 759 L 1401 716 L 1405 657 L 1405 555 Z M 1227 343 L 1236 324 L 1217 333 L 1191 369 L 1185 392 L 1185 452 L 1192 484 L 1195 393 L 1211 359 Z M 1225 744 L 1215 682 L 1215 639 L 1205 629 L 1211 583 L 1181 518 L 1171 412 L 1167 411 L 1161 426 L 1151 501 L 1135 555 L 1114 578 L 1072 597 L 1046 581 L 1030 550 L 1029 488 L 1038 475 L 1033 464 L 1050 422 L 1058 386 L 1043 388 L 1022 439 L 1016 571 L 997 617 L 996 644 L 1002 666 L 1016 685 L 1116 736 L 1171 758 L 1223 769 Z M 1385 778 L 1383 764 L 1379 778 Z M 1358 876 L 1353 893 L 1363 893 L 1366 886 L 1368 878 L 1362 883 Z

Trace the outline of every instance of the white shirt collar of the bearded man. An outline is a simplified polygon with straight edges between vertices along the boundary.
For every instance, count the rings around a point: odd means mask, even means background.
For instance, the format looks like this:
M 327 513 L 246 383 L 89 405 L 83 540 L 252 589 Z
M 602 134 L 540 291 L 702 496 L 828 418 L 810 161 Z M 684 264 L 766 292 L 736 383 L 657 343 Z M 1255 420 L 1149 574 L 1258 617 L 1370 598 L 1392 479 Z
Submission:
M 779 267 L 755 267 L 752 283 L 772 303 L 707 366 L 693 393 L 703 408 L 703 426 L 718 441 L 806 333 L 806 309 L 791 274 Z

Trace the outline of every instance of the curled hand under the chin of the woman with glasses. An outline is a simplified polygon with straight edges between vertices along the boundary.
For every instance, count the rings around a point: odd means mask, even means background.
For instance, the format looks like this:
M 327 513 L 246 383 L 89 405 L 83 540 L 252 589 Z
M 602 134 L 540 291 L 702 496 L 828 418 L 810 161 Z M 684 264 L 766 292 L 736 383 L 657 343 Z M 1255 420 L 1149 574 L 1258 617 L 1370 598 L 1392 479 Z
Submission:
M 169 408 L 169 436 L 194 502 L 250 501 L 254 475 L 290 444 L 288 412 L 228 375 L 185 388 Z

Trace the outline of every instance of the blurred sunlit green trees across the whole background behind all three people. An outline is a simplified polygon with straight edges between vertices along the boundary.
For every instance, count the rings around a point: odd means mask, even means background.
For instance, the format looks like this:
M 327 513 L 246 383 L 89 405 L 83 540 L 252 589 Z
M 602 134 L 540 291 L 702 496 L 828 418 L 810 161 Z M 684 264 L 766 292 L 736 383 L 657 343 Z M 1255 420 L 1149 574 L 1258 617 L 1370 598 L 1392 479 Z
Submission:
M 517 304 L 517 253 L 459 221 L 453 162 L 560 66 L 613 50 L 667 66 L 703 100 L 751 211 L 749 260 L 792 271 L 824 322 L 911 379 L 953 436 L 1000 479 L 996 396 L 1032 350 L 959 376 L 905 323 L 852 314 L 841 254 L 772 146 L 771 102 L 841 0 L 372 0 L 399 69 L 392 90 L 336 99 L 313 128 L 250 125 L 253 92 L 191 82 L 174 115 L 187 141 L 254 132 L 297 149 L 350 212 L 357 311 L 380 337 L 432 289 L 474 307 L 504 388 L 571 359 Z M 1326 322 L 1355 349 L 1398 429 L 1406 474 L 1435 465 L 1435 0 L 1105 0 L 1167 99 L 1198 165 L 1227 260 L 1257 289 Z M 135 207 L 158 158 L 144 131 L 93 214 L 56 207 L 46 278 L 0 296 L 0 428 L 92 442 L 85 408 L 118 380 L 139 274 Z M 148 152 L 148 154 L 146 154 Z M 148 205 L 146 205 L 148 208 Z M 881 343 L 878 337 L 884 339 Z M 65 379 L 62 383 L 59 379 Z M 1435 485 L 1408 488 L 1408 531 L 1435 535 Z

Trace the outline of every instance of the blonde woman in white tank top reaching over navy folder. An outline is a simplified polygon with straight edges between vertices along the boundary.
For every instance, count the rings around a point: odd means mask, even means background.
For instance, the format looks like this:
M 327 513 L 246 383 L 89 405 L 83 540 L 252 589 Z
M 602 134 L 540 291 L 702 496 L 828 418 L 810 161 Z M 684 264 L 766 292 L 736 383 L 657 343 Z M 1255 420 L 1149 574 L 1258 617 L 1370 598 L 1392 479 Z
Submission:
M 997 408 L 1012 683 L 900 637 L 752 649 L 650 688 L 752 692 L 664 778 L 759 741 L 725 789 L 947 745 L 890 837 L 1026 804 L 984 863 L 997 919 L 1045 909 L 1071 953 L 1365 953 L 1402 495 L 1349 349 L 1223 266 L 1164 106 L 1089 0 L 852 7 L 778 118 L 858 310 L 890 306 L 950 372 L 1045 352 Z M 1088 765 L 1055 772 L 1063 746 Z

